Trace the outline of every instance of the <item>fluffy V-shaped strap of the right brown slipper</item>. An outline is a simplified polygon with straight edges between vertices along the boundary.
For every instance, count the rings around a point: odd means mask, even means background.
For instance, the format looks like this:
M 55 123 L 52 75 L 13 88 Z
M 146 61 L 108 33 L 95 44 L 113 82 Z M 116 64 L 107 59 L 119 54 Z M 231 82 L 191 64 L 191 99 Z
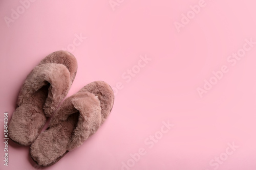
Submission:
M 79 112 L 79 118 L 72 139 L 67 146 L 68 151 L 79 147 L 101 125 L 101 107 L 97 96 L 90 92 L 77 92 L 61 104 L 50 121 L 50 127 L 66 121 L 71 114 L 76 112 Z

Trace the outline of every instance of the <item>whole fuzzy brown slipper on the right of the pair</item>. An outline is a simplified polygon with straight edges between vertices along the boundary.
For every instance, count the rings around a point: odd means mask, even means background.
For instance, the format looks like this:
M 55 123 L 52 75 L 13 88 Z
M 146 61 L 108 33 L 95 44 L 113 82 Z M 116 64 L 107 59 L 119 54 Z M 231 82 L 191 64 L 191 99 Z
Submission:
M 67 98 L 50 120 L 49 128 L 31 144 L 39 166 L 56 163 L 94 134 L 112 110 L 114 92 L 103 81 L 92 82 Z

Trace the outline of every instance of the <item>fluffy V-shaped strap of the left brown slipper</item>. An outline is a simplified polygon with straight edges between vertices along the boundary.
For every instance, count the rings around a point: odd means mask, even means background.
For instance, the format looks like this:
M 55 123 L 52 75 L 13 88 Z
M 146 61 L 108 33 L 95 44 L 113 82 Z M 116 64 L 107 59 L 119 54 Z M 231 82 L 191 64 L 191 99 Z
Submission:
M 51 116 L 67 95 L 72 83 L 70 71 L 63 64 L 47 63 L 36 66 L 28 75 L 18 94 L 17 105 L 26 103 L 34 92 L 48 83 L 50 87 L 44 110 L 47 117 Z

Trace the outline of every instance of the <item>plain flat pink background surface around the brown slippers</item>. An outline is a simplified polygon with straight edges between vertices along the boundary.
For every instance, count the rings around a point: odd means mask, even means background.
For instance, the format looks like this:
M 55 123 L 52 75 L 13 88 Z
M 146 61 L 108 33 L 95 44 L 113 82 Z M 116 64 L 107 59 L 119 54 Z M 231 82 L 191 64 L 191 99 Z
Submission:
M 255 5 L 1 1 L 0 169 L 38 169 L 29 147 L 10 140 L 4 165 L 4 112 L 10 122 L 29 72 L 66 49 L 78 61 L 68 96 L 103 80 L 115 104 L 96 134 L 46 169 L 255 170 Z

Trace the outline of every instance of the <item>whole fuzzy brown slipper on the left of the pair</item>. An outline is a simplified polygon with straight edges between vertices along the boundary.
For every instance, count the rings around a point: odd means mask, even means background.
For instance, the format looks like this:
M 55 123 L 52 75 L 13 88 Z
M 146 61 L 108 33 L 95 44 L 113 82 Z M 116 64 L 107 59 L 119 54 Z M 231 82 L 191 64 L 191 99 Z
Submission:
M 76 58 L 57 51 L 44 58 L 26 78 L 9 125 L 9 137 L 20 145 L 31 144 L 47 117 L 67 95 L 77 71 Z

